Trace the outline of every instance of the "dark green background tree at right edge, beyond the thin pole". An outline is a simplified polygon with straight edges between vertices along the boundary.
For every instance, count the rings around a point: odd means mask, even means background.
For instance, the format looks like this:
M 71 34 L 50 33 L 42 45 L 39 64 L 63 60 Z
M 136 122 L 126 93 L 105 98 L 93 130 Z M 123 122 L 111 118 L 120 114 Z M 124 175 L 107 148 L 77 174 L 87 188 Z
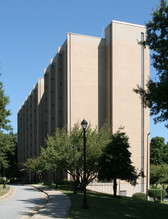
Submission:
M 155 137 L 151 139 L 150 163 L 156 165 L 168 163 L 168 145 L 165 144 L 164 138 Z

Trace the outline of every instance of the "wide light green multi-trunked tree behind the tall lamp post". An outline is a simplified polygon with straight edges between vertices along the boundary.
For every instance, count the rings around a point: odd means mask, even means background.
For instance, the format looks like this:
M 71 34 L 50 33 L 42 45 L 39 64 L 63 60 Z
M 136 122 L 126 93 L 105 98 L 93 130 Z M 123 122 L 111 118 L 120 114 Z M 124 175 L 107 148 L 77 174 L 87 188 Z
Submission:
M 86 129 L 86 184 L 96 178 L 98 158 L 109 141 L 110 132 L 104 126 L 101 130 Z M 54 136 L 48 136 L 47 148 L 42 148 L 41 156 L 46 160 L 48 169 L 64 170 L 74 179 L 76 187 L 83 188 L 83 130 L 75 124 L 70 132 L 57 129 Z M 73 145 L 75 145 L 75 165 Z M 74 174 L 75 173 L 75 174 Z

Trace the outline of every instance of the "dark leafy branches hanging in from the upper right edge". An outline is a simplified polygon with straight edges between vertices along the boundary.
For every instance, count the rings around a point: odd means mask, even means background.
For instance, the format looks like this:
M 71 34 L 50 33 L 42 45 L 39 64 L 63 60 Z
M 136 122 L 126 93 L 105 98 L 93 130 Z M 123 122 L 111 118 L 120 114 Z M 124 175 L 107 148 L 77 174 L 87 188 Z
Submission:
M 146 89 L 140 86 L 134 89 L 143 100 L 144 106 L 150 108 L 154 122 L 168 121 L 168 5 L 160 0 L 160 5 L 152 12 L 152 20 L 146 23 L 146 41 L 157 71 L 157 78 L 147 82 Z M 168 127 L 168 123 L 166 124 Z

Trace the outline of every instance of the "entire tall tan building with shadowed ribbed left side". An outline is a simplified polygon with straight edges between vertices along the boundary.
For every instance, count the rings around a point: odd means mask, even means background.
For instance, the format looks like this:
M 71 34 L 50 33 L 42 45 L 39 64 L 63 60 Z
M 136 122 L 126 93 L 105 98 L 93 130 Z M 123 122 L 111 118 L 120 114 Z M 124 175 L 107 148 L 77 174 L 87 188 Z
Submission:
M 146 172 L 149 110 L 133 92 L 149 77 L 149 49 L 138 44 L 145 34 L 144 26 L 117 21 L 107 26 L 105 38 L 67 34 L 18 111 L 19 164 L 38 156 L 57 127 L 70 130 L 85 118 L 98 128 L 107 122 L 112 132 L 124 126 L 133 164 Z M 142 178 L 135 190 L 144 192 L 145 183 Z

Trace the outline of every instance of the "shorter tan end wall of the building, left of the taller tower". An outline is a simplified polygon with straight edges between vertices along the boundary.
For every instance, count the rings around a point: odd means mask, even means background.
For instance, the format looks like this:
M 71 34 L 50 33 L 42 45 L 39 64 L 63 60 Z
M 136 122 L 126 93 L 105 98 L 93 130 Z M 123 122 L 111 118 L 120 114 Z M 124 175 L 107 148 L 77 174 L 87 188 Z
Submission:
M 106 119 L 105 40 L 69 33 L 67 57 L 68 128 L 84 118 L 101 126 Z

